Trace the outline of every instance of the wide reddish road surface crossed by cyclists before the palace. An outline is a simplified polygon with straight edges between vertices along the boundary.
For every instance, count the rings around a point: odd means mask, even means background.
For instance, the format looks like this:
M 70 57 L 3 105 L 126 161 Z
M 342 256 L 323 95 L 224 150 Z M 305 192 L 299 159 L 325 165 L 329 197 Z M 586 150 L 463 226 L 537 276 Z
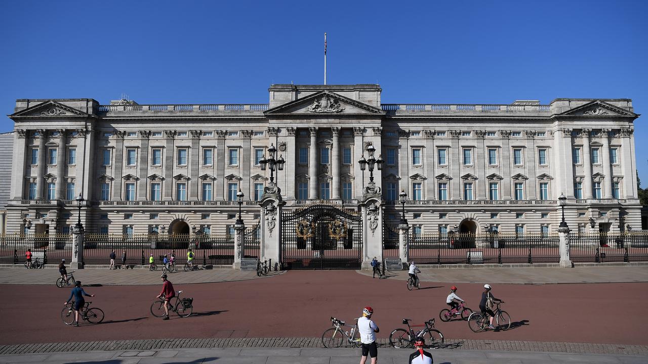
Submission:
M 182 272 L 175 274 L 191 274 Z M 173 280 L 174 275 L 170 275 Z M 84 284 L 101 282 L 84 282 Z M 648 283 L 494 285 L 495 297 L 518 326 L 506 332 L 470 331 L 465 321 L 441 322 L 439 311 L 452 284 L 422 282 L 408 291 L 402 280 L 372 279 L 354 271 L 288 271 L 277 277 L 175 286 L 194 298 L 194 315 L 169 321 L 153 317 L 159 286 L 86 287 L 104 323 L 66 326 L 60 319 L 68 288 L 1 285 L 5 291 L 0 344 L 161 339 L 172 337 L 319 337 L 330 316 L 353 323 L 364 306 L 375 310 L 378 337 L 389 337 L 406 317 L 420 324 L 436 318 L 446 338 L 562 341 L 648 345 L 642 334 Z M 457 293 L 478 308 L 482 284 L 461 284 Z M 86 324 L 87 325 L 87 324 Z M 643 328 L 643 330 L 641 329 Z

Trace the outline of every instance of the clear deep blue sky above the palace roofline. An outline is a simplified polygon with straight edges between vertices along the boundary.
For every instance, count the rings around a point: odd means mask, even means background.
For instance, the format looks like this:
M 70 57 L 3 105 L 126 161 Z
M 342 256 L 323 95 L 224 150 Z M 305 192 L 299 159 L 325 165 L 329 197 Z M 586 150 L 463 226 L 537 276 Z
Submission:
M 378 82 L 385 103 L 632 98 L 648 113 L 648 1 L 413 3 L 3 1 L 0 108 L 122 93 L 267 103 L 270 84 L 323 82 L 327 32 L 328 83 Z M 646 117 L 634 134 L 643 187 Z

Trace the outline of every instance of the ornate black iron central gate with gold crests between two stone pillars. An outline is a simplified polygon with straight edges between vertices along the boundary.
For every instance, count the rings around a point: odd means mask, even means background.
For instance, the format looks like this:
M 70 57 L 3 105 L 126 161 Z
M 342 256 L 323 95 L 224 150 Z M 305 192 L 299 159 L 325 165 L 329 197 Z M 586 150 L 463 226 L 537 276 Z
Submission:
M 360 269 L 360 212 L 335 205 L 284 211 L 281 258 L 288 269 Z

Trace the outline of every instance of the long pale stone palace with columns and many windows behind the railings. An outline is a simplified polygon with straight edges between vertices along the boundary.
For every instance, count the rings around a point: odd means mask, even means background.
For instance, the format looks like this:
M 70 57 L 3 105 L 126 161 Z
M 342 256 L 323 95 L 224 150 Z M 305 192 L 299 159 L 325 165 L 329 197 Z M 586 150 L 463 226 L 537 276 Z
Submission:
M 359 211 L 369 185 L 381 225 L 417 235 L 549 234 L 561 195 L 572 231 L 641 226 L 629 99 L 384 104 L 373 84 L 268 91 L 267 104 L 16 100 L 6 231 L 69 233 L 80 220 L 97 234 L 233 234 L 239 208 L 248 227 L 263 219 L 264 194 L 279 192 L 284 211 Z

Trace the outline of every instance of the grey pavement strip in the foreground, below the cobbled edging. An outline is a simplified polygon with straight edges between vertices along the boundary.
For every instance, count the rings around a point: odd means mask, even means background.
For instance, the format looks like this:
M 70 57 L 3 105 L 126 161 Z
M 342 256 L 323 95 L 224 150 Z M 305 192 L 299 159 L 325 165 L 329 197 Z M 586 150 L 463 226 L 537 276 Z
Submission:
M 494 350 L 433 350 L 428 349 L 439 364 L 465 363 L 646 363 L 646 356 L 623 354 L 565 354 L 556 352 L 501 352 Z M 378 349 L 378 363 L 407 363 L 411 349 Z M 353 348 L 179 348 L 155 350 L 113 350 L 87 352 L 56 352 L 29 355 L 0 356 L 5 363 L 93 363 L 93 364 L 162 364 L 162 363 L 223 363 L 223 364 L 337 364 L 358 363 L 360 349 Z

